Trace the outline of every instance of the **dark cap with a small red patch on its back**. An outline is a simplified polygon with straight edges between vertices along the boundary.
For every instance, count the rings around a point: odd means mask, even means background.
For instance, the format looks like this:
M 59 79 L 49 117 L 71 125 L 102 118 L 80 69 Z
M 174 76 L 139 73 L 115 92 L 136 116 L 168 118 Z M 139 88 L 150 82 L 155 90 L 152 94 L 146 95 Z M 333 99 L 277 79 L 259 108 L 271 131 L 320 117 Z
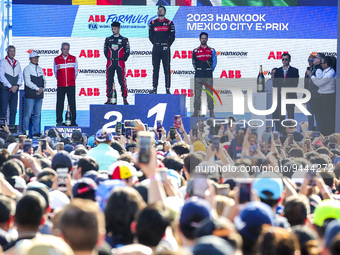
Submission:
M 74 198 L 88 198 L 95 200 L 95 191 L 97 184 L 91 178 L 80 178 L 72 188 L 72 195 Z

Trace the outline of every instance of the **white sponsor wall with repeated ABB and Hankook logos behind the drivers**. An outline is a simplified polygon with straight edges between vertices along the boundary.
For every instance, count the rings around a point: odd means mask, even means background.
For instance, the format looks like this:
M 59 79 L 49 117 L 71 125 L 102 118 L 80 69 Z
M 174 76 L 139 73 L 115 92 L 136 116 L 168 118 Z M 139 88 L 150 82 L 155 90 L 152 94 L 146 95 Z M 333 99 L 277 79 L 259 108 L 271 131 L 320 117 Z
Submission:
M 94 102 L 103 104 L 106 101 L 106 58 L 103 53 L 103 38 L 55 38 L 55 37 L 13 37 L 16 46 L 16 58 L 22 68 L 29 63 L 30 50 L 40 51 L 39 65 L 44 69 L 47 85 L 43 109 L 55 110 L 56 78 L 53 61 L 60 54 L 62 42 L 71 45 L 70 54 L 78 59 L 78 77 L 76 80 L 77 109 L 88 110 Z M 152 88 L 152 45 L 148 38 L 130 38 L 131 52 L 126 62 L 126 79 L 128 101 L 134 103 L 135 94 L 148 94 Z M 81 42 L 81 43 L 80 43 Z M 190 79 L 195 71 L 192 66 L 192 50 L 199 45 L 198 38 L 177 38 L 171 47 L 171 92 L 193 96 L 190 90 Z M 218 39 L 211 38 L 208 45 L 217 52 L 215 78 L 242 79 L 256 78 L 259 66 L 263 66 L 266 80 L 274 67 L 282 66 L 281 56 L 288 52 L 292 56 L 291 65 L 299 69 L 304 77 L 308 66 L 308 56 L 315 52 L 336 56 L 336 40 L 279 40 L 279 39 Z M 264 47 L 266 45 L 266 47 Z M 306 47 L 312 45 L 313 47 Z M 158 93 L 165 93 L 163 68 L 160 68 Z M 115 75 L 118 90 L 118 103 L 122 104 L 120 85 Z M 303 86 L 303 84 L 300 84 Z M 65 100 L 65 108 L 67 100 Z M 188 108 L 189 109 L 189 108 Z

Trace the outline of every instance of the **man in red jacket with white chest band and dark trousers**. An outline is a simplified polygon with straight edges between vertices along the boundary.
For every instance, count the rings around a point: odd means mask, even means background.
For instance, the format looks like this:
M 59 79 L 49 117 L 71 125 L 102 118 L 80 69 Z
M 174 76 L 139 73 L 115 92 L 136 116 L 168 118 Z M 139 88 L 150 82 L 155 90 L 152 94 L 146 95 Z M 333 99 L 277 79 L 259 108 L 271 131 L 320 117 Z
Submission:
M 54 58 L 54 75 L 57 78 L 57 126 L 62 126 L 65 94 L 72 114 L 71 126 L 76 123 L 76 78 L 78 75 L 78 61 L 69 54 L 70 44 L 61 44 L 61 54 Z

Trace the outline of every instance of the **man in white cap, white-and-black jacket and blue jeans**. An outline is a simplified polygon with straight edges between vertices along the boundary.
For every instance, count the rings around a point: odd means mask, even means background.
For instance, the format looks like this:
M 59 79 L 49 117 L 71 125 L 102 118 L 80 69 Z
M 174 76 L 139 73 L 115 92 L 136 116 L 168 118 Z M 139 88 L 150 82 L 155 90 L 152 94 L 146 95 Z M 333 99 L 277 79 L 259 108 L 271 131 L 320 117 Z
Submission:
M 39 63 L 39 55 L 33 51 L 30 53 L 30 63 L 24 69 L 25 80 L 25 110 L 23 118 L 24 131 L 29 130 L 30 118 L 33 113 L 33 134 L 40 134 L 41 106 L 46 85 L 44 71 Z

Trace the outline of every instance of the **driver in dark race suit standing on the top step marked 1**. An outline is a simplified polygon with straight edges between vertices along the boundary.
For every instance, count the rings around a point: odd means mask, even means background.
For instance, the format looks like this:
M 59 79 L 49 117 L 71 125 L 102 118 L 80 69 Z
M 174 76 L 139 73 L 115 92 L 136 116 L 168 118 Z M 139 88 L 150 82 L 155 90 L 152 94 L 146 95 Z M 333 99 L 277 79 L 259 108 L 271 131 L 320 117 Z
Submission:
M 164 6 L 158 7 L 157 14 L 158 18 L 152 20 L 149 26 L 149 40 L 153 44 L 153 89 L 150 94 L 157 94 L 161 60 L 165 75 L 166 93 L 170 94 L 170 46 L 175 41 L 175 25 L 171 20 L 165 18 L 166 9 Z

